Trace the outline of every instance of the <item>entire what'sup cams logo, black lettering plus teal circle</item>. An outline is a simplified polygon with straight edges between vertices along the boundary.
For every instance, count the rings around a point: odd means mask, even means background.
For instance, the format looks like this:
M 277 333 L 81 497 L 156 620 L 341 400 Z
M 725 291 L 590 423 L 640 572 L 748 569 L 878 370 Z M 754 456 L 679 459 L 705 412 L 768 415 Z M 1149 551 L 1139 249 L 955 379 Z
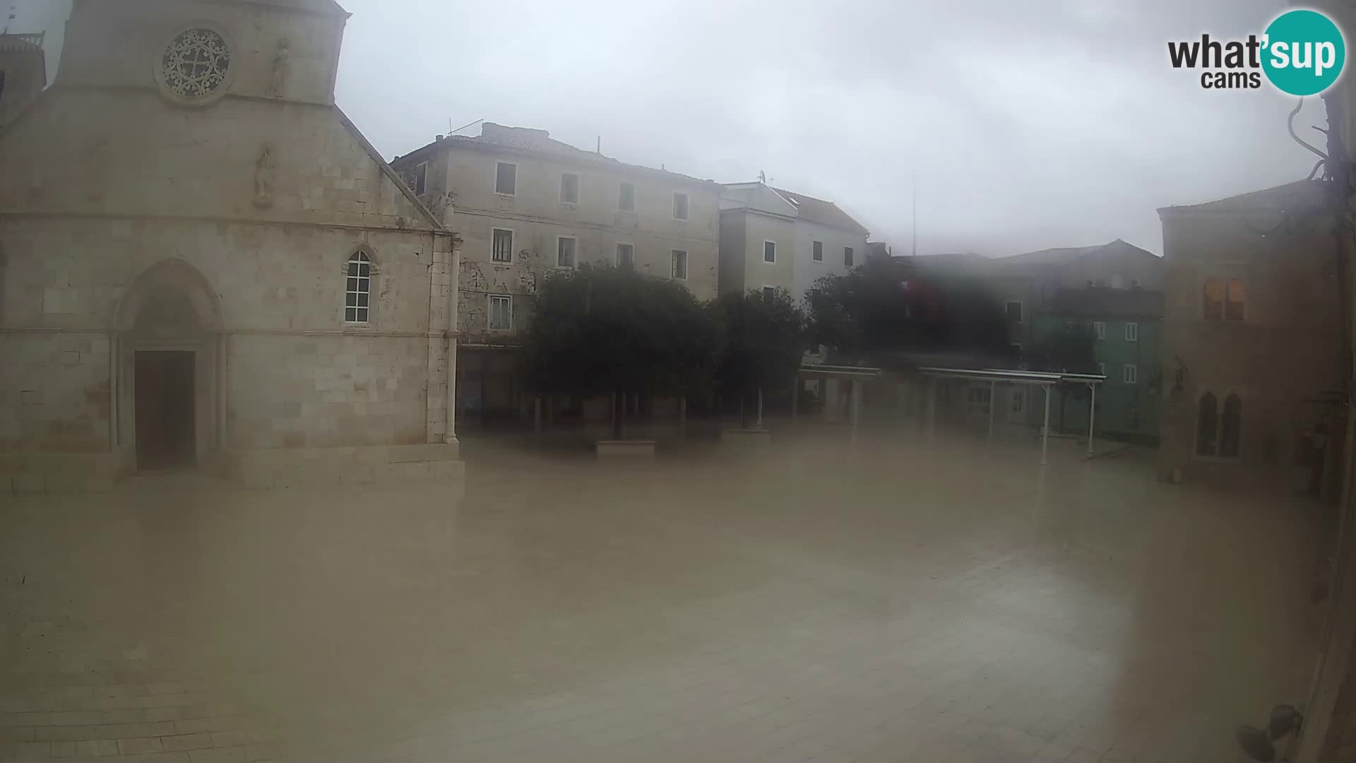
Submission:
M 1296 10 L 1276 16 L 1261 37 L 1169 42 L 1168 60 L 1174 69 L 1203 69 L 1207 90 L 1258 88 L 1267 75 L 1281 92 L 1317 95 L 1341 76 L 1347 42 L 1323 14 Z

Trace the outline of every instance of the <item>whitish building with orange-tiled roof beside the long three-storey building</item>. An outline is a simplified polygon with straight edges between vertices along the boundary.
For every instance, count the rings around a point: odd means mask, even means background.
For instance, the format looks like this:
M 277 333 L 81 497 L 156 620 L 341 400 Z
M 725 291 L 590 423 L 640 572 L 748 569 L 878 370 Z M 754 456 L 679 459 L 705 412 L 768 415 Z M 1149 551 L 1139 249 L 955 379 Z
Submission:
M 720 200 L 720 289 L 785 289 L 866 261 L 866 228 L 837 204 L 763 182 L 727 183 Z

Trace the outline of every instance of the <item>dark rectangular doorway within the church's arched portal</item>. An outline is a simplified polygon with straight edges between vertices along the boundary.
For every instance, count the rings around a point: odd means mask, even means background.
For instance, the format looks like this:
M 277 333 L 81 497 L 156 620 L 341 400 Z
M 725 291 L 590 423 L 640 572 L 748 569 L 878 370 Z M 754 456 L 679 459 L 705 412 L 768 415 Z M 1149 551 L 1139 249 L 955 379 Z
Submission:
M 137 468 L 197 462 L 193 350 L 137 350 Z

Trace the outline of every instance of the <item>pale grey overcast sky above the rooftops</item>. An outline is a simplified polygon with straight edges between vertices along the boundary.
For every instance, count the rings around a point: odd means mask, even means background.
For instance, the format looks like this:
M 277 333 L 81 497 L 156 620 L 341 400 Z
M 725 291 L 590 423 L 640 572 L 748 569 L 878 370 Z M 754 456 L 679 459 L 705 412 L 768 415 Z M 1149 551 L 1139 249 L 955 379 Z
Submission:
M 15 31 L 69 0 L 18 4 Z M 1288 96 L 1207 91 L 1166 41 L 1261 31 L 1280 0 L 340 0 L 338 102 L 391 159 L 473 119 L 622 162 L 837 201 L 895 254 L 1016 254 L 1299 179 Z M 54 69 L 54 67 L 53 67 Z M 1319 140 L 1321 103 L 1300 134 Z M 473 128 L 468 130 L 475 133 Z

